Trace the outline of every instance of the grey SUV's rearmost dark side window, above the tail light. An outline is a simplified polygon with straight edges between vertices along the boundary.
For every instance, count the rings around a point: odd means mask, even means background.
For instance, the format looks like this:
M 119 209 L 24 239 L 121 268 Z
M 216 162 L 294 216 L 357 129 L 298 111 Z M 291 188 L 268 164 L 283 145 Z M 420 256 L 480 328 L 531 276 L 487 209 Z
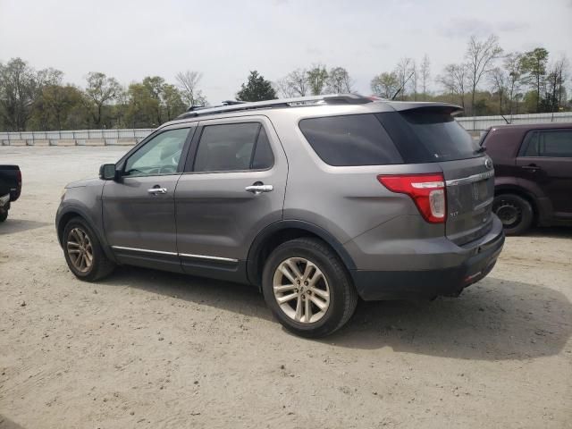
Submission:
M 374 114 L 303 119 L 299 128 L 317 156 L 330 165 L 402 164 Z

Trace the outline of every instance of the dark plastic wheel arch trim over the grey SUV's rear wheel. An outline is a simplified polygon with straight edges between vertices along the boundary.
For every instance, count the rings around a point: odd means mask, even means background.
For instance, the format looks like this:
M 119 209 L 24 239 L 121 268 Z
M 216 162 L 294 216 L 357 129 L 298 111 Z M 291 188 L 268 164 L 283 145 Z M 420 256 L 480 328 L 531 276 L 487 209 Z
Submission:
M 283 242 L 300 237 L 315 237 L 324 240 L 336 255 L 340 257 L 341 262 L 349 270 L 349 273 L 351 273 L 351 270 L 356 269 L 356 265 L 349 256 L 348 251 L 330 232 L 325 231 L 314 223 L 289 220 L 273 223 L 258 233 L 248 250 L 248 281 L 260 287 L 265 258 Z

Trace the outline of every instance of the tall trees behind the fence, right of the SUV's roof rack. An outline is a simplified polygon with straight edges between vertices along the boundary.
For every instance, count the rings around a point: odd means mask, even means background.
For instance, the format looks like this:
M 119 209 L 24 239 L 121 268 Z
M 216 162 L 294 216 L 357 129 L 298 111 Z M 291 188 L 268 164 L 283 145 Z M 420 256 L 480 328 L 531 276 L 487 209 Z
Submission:
M 496 36 L 473 36 L 462 61 L 445 65 L 434 79 L 427 55 L 418 63 L 405 57 L 393 71 L 375 76 L 371 88 L 380 97 L 391 98 L 401 88 L 400 100 L 455 103 L 463 106 L 467 116 L 570 110 L 568 58 L 550 60 L 543 47 L 506 53 Z M 439 90 L 431 91 L 432 84 Z

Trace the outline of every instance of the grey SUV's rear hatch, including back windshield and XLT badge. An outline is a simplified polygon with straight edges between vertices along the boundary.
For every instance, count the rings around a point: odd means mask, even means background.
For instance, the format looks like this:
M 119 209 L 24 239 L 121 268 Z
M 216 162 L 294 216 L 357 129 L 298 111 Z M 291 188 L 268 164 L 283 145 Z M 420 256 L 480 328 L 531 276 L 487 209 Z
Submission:
M 490 158 L 453 118 L 451 105 L 414 105 L 378 114 L 407 164 L 435 163 L 446 183 L 445 234 L 458 245 L 483 237 L 492 227 L 494 173 Z M 411 106 L 411 105 L 409 105 Z

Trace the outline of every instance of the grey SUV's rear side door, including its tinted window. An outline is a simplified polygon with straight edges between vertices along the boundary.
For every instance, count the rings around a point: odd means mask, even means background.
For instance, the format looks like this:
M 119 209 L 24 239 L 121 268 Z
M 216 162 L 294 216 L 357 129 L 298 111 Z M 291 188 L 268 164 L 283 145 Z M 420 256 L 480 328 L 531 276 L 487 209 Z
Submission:
M 265 116 L 200 122 L 175 192 L 183 270 L 246 280 L 250 244 L 282 219 L 287 173 Z

